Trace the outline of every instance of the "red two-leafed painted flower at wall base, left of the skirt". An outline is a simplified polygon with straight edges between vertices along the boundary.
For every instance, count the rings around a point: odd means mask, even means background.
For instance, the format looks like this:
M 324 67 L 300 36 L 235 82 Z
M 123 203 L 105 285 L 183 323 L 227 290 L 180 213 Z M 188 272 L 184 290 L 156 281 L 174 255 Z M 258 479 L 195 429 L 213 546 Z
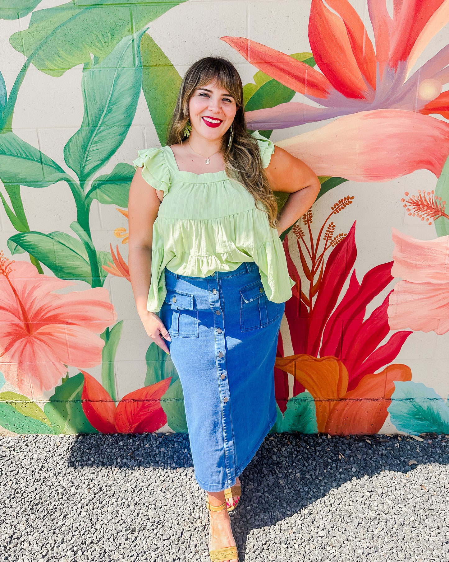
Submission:
M 167 423 L 161 398 L 171 377 L 123 396 L 115 405 L 109 393 L 89 373 L 84 374 L 81 393 L 83 410 L 89 422 L 102 433 L 152 433 Z

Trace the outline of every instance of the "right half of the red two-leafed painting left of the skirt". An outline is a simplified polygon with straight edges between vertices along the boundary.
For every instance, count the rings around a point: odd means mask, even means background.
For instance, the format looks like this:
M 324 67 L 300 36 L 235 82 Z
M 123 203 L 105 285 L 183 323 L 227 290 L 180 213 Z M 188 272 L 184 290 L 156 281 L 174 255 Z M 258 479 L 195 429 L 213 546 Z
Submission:
M 123 396 L 117 406 L 116 427 L 119 433 L 152 433 L 167 423 L 161 398 L 170 386 L 171 377 Z

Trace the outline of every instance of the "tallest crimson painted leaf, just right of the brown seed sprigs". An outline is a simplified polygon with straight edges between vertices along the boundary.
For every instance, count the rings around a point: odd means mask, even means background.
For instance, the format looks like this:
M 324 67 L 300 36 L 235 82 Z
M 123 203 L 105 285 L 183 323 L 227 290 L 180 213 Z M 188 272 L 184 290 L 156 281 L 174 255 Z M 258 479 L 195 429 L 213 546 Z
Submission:
M 324 326 L 337 304 L 338 296 L 354 265 L 356 257 L 357 248 L 355 246 L 354 223 L 346 238 L 337 244 L 327 259 L 321 287 L 310 316 L 307 346 L 307 353 L 309 355 L 318 356 Z

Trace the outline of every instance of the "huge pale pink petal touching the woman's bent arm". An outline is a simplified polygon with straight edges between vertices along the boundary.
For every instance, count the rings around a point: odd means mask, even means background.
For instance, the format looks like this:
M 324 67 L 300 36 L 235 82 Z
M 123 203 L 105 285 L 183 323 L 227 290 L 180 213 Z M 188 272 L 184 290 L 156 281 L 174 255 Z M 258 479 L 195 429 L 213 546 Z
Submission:
M 427 169 L 439 176 L 449 123 L 413 111 L 363 111 L 276 144 L 318 175 L 383 182 Z

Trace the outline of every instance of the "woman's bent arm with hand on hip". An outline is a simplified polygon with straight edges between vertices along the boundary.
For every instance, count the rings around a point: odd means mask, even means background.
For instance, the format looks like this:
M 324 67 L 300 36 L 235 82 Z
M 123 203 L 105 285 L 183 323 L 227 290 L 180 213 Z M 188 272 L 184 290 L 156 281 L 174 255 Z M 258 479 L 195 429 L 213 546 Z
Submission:
M 281 235 L 310 209 L 318 196 L 320 182 L 317 174 L 307 164 L 278 146 L 274 147 L 265 172 L 273 191 L 290 193 L 278 215 L 277 230 Z

